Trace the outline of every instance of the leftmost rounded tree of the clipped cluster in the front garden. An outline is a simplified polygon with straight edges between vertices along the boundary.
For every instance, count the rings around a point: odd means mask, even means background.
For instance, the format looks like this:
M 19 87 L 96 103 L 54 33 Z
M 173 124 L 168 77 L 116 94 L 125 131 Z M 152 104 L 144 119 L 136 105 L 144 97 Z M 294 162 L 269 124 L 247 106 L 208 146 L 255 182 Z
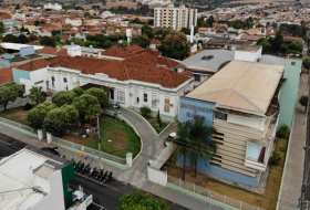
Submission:
M 34 129 L 42 129 L 44 118 L 46 117 L 48 113 L 54 108 L 58 108 L 58 106 L 45 102 L 29 111 L 27 120 L 30 123 L 30 127 Z

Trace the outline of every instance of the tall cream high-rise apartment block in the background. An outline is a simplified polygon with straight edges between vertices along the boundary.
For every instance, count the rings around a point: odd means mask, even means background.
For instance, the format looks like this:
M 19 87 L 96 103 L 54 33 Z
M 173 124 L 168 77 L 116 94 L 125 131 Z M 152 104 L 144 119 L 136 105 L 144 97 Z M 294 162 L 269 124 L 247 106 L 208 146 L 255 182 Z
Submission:
M 173 30 L 196 27 L 197 9 L 185 8 L 185 6 L 175 8 L 174 4 L 169 4 L 167 8 L 155 8 L 154 25 Z

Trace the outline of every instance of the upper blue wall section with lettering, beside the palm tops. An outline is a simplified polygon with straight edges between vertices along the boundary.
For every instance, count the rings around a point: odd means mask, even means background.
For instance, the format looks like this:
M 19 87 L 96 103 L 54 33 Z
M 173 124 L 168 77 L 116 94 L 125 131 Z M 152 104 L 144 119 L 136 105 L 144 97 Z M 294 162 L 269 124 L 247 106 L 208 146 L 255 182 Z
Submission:
M 214 103 L 180 97 L 178 120 L 180 123 L 187 122 L 189 119 L 194 119 L 194 116 L 199 115 L 206 118 L 207 126 L 213 126 L 214 112 L 211 108 L 214 107 Z

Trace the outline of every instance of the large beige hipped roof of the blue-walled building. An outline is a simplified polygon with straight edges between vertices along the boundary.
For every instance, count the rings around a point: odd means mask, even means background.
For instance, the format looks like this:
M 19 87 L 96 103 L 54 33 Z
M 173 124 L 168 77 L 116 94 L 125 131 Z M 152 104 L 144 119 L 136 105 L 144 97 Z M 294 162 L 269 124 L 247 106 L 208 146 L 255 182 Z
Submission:
M 186 97 L 220 107 L 265 115 L 282 77 L 283 65 L 231 61 Z

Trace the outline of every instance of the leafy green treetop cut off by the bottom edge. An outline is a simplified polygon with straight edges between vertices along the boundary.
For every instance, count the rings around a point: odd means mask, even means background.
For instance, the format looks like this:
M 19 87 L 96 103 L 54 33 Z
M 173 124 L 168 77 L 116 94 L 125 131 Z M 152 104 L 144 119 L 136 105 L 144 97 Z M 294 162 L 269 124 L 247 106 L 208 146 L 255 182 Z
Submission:
M 120 203 L 116 210 L 132 210 L 132 209 L 157 209 L 168 210 L 166 201 L 162 199 L 155 199 L 151 195 L 144 195 L 140 192 L 130 192 L 120 199 Z

